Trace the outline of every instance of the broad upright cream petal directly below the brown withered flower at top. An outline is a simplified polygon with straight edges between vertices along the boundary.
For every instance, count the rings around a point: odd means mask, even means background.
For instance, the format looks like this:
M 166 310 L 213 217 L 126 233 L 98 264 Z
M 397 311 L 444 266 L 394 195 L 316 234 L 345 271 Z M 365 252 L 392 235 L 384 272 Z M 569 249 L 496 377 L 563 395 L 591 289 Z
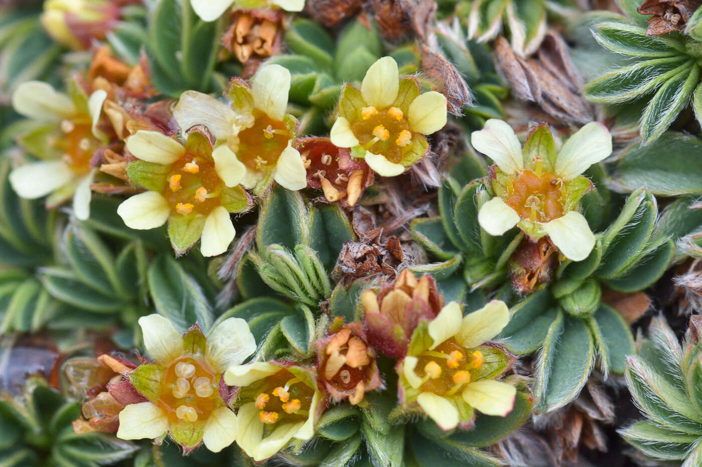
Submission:
M 288 107 L 290 72 L 280 65 L 265 65 L 251 80 L 253 103 L 273 120 L 282 120 Z

